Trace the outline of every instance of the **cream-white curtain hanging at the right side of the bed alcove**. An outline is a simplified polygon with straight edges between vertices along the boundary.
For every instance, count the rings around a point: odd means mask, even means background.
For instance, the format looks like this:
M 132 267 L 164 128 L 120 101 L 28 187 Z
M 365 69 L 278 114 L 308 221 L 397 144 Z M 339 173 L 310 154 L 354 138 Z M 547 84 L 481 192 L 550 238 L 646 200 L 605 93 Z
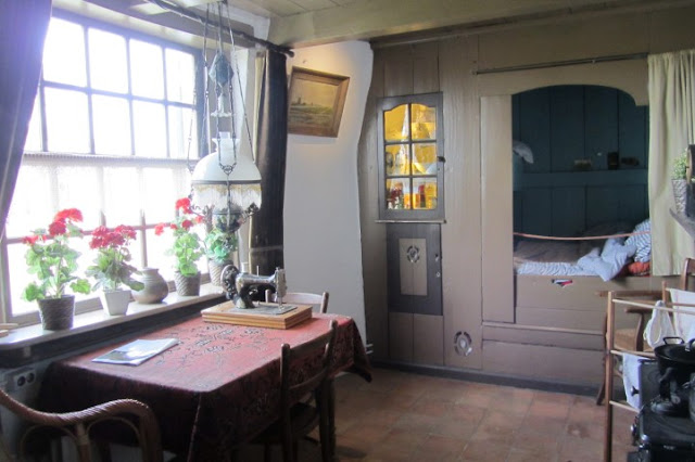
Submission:
M 652 54 L 648 65 L 652 273 L 677 274 L 695 257 L 693 238 L 670 214 L 673 159 L 695 143 L 695 50 Z

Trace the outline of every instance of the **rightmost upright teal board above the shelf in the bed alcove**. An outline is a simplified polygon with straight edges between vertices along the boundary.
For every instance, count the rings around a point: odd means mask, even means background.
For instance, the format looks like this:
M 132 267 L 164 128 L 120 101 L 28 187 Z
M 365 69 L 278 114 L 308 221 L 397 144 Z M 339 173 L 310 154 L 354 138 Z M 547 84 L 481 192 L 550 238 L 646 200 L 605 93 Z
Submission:
M 634 100 L 628 93 L 618 93 L 618 151 L 620 152 L 620 168 L 647 168 L 647 107 L 635 106 Z M 634 158 L 626 164 L 626 158 Z

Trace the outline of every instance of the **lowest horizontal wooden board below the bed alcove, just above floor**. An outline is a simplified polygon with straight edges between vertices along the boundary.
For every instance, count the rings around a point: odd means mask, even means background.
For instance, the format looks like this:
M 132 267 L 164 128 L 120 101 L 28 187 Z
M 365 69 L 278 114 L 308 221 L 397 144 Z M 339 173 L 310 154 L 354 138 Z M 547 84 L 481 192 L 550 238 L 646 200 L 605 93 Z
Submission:
M 603 382 L 604 351 L 483 342 L 483 369 L 516 376 L 555 378 L 574 384 Z

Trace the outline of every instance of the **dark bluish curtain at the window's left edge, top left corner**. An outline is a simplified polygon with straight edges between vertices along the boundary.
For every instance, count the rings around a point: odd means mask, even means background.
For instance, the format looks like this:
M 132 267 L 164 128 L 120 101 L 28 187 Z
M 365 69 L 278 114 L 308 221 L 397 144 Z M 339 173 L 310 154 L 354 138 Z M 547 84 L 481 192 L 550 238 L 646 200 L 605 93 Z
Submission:
M 51 0 L 0 1 L 0 232 L 4 233 L 34 107 Z

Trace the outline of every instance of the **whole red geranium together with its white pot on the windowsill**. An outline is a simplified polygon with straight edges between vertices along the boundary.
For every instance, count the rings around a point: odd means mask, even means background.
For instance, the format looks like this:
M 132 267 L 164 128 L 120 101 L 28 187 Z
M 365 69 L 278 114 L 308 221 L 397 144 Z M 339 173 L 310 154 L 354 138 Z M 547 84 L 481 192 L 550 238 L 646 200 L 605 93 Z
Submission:
M 128 245 L 134 239 L 135 230 L 124 224 L 114 229 L 99 227 L 91 234 L 89 247 L 97 249 L 97 258 L 86 273 L 97 280 L 92 290 L 102 290 L 99 295 L 101 306 L 110 316 L 125 315 L 130 303 L 130 290 L 139 291 L 144 286 L 132 279 L 132 274 L 139 274 L 129 264 Z

